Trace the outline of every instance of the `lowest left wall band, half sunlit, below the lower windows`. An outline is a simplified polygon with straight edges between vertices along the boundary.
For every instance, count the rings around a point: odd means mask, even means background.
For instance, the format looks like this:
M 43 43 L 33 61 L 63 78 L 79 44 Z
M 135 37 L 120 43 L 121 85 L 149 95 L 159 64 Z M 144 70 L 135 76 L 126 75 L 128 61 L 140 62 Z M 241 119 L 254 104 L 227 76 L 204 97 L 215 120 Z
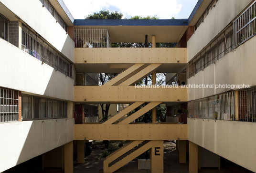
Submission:
M 0 172 L 74 139 L 74 119 L 49 119 L 0 125 Z

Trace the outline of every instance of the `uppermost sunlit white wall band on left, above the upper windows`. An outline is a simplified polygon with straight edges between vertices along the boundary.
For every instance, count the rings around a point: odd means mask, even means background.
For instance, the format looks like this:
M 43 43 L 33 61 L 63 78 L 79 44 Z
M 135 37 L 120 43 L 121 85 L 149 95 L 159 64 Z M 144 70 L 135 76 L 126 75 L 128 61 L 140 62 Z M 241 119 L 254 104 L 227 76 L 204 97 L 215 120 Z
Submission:
M 74 41 L 60 24 L 56 23 L 52 14 L 42 7 L 40 0 L 0 0 L 0 2 L 74 62 Z

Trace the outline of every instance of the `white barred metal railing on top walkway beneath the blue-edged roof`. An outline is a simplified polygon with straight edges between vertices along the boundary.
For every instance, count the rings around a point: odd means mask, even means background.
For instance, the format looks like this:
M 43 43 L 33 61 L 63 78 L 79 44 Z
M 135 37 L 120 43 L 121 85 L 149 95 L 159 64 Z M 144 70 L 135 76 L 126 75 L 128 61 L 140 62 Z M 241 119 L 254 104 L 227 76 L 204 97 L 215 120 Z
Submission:
M 107 29 L 74 29 L 75 48 L 111 48 Z

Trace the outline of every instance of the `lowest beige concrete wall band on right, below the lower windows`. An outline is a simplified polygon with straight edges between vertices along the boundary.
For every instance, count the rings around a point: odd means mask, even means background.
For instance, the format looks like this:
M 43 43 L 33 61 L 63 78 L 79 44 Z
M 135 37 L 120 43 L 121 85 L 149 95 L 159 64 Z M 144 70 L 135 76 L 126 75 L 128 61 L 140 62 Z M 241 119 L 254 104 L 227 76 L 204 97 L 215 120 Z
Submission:
M 256 172 L 256 124 L 188 118 L 188 140 Z

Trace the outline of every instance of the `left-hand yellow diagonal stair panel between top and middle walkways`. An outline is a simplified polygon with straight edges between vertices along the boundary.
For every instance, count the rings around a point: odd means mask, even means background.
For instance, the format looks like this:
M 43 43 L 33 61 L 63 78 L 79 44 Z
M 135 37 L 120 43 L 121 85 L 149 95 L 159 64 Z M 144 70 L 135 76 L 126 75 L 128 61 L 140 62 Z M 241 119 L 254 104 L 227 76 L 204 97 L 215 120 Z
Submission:
M 123 81 L 127 80 L 129 77 L 132 77 L 136 73 L 138 73 L 145 64 L 134 64 L 133 66 L 126 69 L 124 72 L 120 73 L 110 81 L 108 81 L 105 86 L 119 85 Z

